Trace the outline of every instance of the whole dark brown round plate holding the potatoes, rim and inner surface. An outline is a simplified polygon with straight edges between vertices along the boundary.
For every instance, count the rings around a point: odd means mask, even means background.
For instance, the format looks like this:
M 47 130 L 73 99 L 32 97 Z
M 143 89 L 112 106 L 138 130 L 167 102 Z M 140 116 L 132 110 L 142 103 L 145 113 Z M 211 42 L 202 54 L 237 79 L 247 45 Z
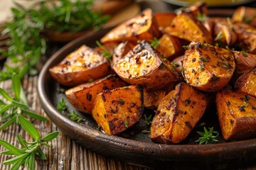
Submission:
M 38 94 L 43 109 L 60 130 L 75 142 L 92 151 L 132 164 L 171 167 L 176 164 L 180 166 L 187 166 L 189 163 L 196 164 L 196 162 L 198 164 L 200 162 L 203 162 L 203 164 L 215 164 L 216 162 L 227 162 L 230 159 L 243 158 L 249 160 L 255 158 L 256 139 L 240 142 L 225 142 L 221 140 L 222 143 L 214 145 L 198 145 L 194 142 L 198 138 L 196 130 L 203 130 L 203 126 L 200 126 L 200 123 L 204 122 L 208 127 L 213 126 L 215 130 L 220 132 L 215 111 L 209 111 L 205 114 L 186 141 L 178 145 L 160 145 L 151 142 L 149 133 L 142 133 L 142 130 L 149 129 L 143 118 L 133 128 L 119 136 L 114 136 L 106 135 L 104 132 L 99 131 L 91 115 L 80 113 L 85 121 L 79 124 L 70 120 L 65 114 L 58 112 L 56 109 L 58 101 L 62 97 L 65 98 L 65 95 L 59 91 L 60 89 L 65 90 L 65 88 L 58 85 L 50 77 L 48 69 L 58 64 L 66 55 L 76 50 L 80 45 L 95 46 L 95 40 L 99 40 L 109 30 L 105 29 L 90 36 L 85 35 L 68 43 L 68 45 L 58 50 L 41 70 L 38 79 Z M 70 104 L 68 107 L 70 110 L 74 109 Z M 186 162 L 186 164 L 180 164 L 181 162 Z

